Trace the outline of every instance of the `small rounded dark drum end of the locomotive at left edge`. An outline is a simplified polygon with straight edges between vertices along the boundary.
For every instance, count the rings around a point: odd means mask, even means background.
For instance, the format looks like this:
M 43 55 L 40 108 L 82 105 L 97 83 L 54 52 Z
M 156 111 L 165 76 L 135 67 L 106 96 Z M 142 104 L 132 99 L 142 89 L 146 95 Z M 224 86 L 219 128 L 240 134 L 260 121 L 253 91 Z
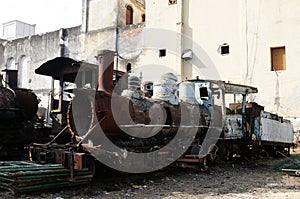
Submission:
M 17 88 L 16 93 L 16 105 L 23 110 L 26 120 L 31 120 L 36 116 L 38 110 L 39 101 L 37 96 L 29 89 Z

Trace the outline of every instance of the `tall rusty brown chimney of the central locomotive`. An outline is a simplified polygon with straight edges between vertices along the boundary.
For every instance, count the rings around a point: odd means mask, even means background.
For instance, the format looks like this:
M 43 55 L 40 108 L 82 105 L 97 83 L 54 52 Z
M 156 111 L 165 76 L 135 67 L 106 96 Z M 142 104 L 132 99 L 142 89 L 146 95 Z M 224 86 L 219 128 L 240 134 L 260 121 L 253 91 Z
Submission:
M 113 72 L 114 72 L 114 52 L 101 50 L 98 52 L 98 91 L 112 93 Z

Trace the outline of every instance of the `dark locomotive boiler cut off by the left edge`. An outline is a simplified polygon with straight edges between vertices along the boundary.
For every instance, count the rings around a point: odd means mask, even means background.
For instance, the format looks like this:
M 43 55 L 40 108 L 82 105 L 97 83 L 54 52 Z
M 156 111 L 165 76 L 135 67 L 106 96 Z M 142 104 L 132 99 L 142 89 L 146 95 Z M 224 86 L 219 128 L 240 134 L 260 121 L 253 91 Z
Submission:
M 38 99 L 29 89 L 3 85 L 0 78 L 0 156 L 8 158 L 36 138 L 34 119 Z

